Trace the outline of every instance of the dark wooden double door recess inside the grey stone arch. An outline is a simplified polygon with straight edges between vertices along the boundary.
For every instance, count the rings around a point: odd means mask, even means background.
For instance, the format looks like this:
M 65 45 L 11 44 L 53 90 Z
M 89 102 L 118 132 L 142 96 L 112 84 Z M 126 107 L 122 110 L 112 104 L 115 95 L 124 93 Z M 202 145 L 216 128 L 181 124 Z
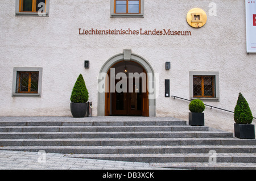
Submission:
M 108 71 L 105 116 L 148 116 L 147 74 L 134 61 L 120 61 Z M 114 87 L 114 89 L 112 89 Z M 113 91 L 112 91 L 113 90 Z

